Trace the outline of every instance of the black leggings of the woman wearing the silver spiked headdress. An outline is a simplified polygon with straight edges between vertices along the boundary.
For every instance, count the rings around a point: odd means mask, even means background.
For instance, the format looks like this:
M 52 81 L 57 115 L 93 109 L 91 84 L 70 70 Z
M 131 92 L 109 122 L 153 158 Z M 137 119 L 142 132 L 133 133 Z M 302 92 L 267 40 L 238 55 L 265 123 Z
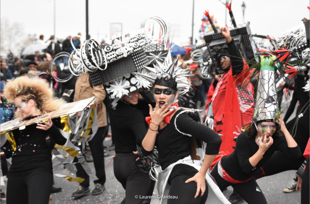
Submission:
M 200 191 L 198 197 L 195 198 L 196 191 L 197 191 L 197 183 L 195 181 L 185 183 L 186 180 L 195 176 L 197 172 L 193 173 L 193 175 L 191 176 L 174 175 L 174 171 L 172 169 L 170 178 L 168 180 L 168 184 L 170 184 L 169 195 L 175 196 L 178 198 L 168 199 L 167 204 L 188 204 L 188 203 L 204 204 L 206 203 L 206 200 L 208 198 L 208 185 L 207 184 L 206 184 L 206 191 L 203 194 L 203 196 L 201 197 L 201 191 Z

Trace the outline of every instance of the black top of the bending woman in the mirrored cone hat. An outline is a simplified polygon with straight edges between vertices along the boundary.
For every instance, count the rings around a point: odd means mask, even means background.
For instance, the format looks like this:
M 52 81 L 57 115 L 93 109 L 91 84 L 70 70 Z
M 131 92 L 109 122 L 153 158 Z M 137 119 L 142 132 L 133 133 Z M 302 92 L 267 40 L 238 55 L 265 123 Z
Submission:
M 254 176 L 255 172 L 268 162 L 275 151 L 280 150 L 284 155 L 290 158 L 300 158 L 302 156 L 299 146 L 288 147 L 284 137 L 272 137 L 273 144 L 263 155 L 256 167 L 250 164 L 249 158 L 253 156 L 259 149 L 255 142 L 255 137 L 246 137 L 246 132 L 242 132 L 236 142 L 236 148 L 232 154 L 225 156 L 221 160 L 224 170 L 233 179 L 239 181 L 249 180 Z M 217 171 L 215 169 L 214 171 Z

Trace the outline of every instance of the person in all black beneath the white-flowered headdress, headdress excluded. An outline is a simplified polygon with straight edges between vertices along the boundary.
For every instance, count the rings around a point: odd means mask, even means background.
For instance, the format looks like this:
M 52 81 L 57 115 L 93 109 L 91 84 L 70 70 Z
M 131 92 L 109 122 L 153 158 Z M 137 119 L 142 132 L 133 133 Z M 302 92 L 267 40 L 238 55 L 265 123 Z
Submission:
M 148 173 L 138 171 L 135 161 L 139 158 L 137 149 L 141 147 L 146 128 L 142 113 L 135 108 L 138 103 L 139 92 L 136 90 L 124 95 L 116 108 L 109 105 L 109 118 L 115 144 L 114 175 L 126 190 L 126 197 L 122 204 L 142 203 L 150 189 Z M 113 100 L 111 101 L 113 102 Z

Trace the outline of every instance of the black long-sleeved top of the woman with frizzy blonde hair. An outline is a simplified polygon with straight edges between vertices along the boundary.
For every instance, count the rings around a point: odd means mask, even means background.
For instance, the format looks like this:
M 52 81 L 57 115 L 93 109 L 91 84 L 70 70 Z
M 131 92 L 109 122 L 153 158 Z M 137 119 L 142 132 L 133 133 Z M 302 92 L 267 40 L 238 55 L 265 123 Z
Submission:
M 9 141 L 6 141 L 1 147 L 6 158 L 12 157 L 12 165 L 8 172 L 9 176 L 20 176 L 33 171 L 53 173 L 51 159 L 51 149 L 53 147 L 47 144 L 46 138 L 50 136 L 52 141 L 59 145 L 64 145 L 67 140 L 57 129 L 57 127 L 61 128 L 60 119 L 56 118 L 52 119 L 52 121 L 53 125 L 48 130 L 36 128 L 36 123 L 27 125 L 23 130 L 12 130 L 16 142 L 16 150 L 13 150 Z

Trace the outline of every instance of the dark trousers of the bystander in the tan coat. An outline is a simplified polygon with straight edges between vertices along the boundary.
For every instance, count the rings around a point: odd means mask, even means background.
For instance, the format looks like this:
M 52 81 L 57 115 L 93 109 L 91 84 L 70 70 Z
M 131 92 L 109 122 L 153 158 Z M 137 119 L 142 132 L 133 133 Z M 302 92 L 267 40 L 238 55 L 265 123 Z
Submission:
M 98 180 L 94 180 L 94 183 L 97 184 L 104 184 L 105 183 L 105 167 L 104 167 L 104 147 L 103 147 L 103 140 L 106 136 L 107 132 L 107 126 L 98 128 L 96 134 L 91 139 L 91 141 L 88 142 L 89 148 L 91 149 L 91 155 L 94 159 L 94 166 L 96 170 L 96 176 Z M 82 165 L 80 163 L 75 164 L 77 167 L 77 177 L 81 177 L 85 179 L 82 183 L 80 183 L 80 186 L 82 187 L 89 187 L 89 176 L 86 173 L 86 171 L 83 169 Z

